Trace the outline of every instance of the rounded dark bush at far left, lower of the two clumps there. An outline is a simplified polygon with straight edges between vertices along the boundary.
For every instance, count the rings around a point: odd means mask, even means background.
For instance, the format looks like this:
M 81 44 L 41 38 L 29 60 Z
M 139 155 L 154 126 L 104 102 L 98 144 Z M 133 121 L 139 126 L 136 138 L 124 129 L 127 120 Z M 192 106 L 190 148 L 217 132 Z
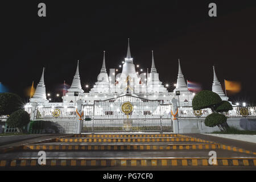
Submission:
M 9 127 L 18 127 L 20 131 L 24 131 L 23 127 L 30 122 L 30 114 L 28 114 L 23 109 L 16 110 L 14 113 L 7 118 L 7 125 Z

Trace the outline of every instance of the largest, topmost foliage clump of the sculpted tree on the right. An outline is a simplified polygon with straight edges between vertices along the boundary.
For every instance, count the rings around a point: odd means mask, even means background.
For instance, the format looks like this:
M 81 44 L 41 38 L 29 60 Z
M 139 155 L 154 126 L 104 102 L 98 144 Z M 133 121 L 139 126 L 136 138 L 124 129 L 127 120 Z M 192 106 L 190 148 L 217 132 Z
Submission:
M 221 98 L 217 93 L 209 90 L 202 90 L 197 93 L 192 100 L 193 110 L 200 110 L 214 107 L 221 102 Z

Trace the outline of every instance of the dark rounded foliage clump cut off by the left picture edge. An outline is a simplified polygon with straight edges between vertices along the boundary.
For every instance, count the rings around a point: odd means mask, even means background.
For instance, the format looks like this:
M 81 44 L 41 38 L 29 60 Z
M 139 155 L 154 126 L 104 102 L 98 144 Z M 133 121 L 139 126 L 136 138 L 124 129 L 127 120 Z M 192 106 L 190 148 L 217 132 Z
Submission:
M 10 115 L 22 106 L 22 99 L 14 93 L 0 94 L 0 115 Z

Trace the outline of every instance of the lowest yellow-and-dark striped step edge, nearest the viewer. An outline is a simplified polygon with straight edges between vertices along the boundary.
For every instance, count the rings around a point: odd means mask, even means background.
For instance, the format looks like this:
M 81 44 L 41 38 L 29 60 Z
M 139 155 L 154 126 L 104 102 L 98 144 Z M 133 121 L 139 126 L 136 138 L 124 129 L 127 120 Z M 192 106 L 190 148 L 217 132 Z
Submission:
M 0 160 L 0 167 L 40 166 L 38 159 Z M 210 165 L 208 158 L 95 158 L 95 159 L 47 159 L 44 166 L 256 166 L 256 158 L 217 158 L 217 164 Z M 1 169 L 1 168 L 0 168 Z

